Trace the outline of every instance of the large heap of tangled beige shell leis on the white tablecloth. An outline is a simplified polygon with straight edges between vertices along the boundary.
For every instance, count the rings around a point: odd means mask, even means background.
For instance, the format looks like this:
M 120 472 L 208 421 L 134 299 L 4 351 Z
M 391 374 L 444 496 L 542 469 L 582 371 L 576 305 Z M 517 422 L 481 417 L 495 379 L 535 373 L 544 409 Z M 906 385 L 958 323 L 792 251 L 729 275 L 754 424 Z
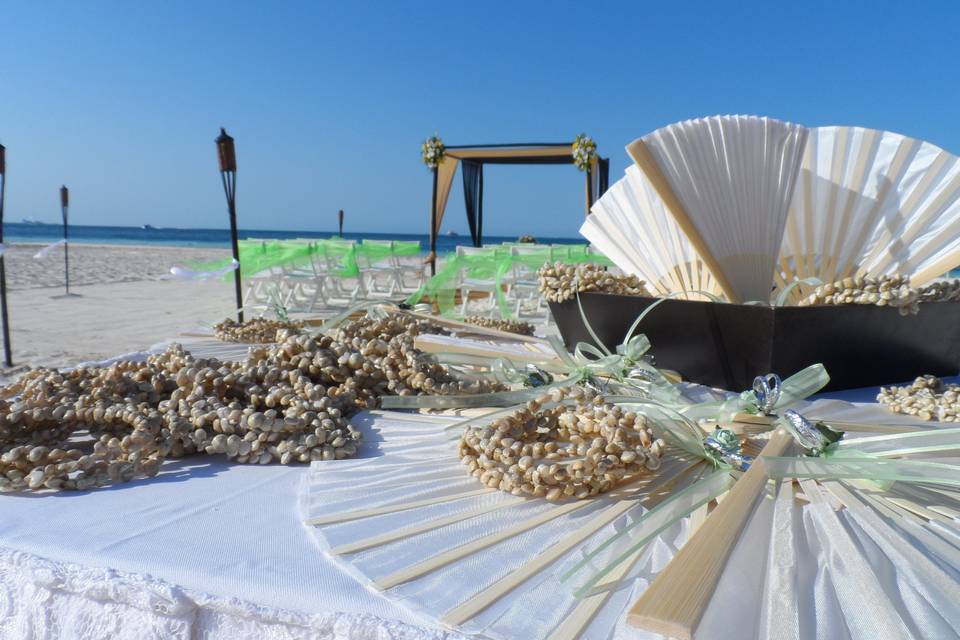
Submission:
M 354 456 L 347 416 L 389 394 L 487 392 L 413 348 L 438 327 L 364 318 L 332 336 L 281 331 L 244 362 L 172 345 L 146 362 L 36 369 L 0 400 L 0 491 L 85 490 L 156 475 L 166 458 L 225 455 L 248 464 Z M 77 442 L 88 435 L 93 442 Z

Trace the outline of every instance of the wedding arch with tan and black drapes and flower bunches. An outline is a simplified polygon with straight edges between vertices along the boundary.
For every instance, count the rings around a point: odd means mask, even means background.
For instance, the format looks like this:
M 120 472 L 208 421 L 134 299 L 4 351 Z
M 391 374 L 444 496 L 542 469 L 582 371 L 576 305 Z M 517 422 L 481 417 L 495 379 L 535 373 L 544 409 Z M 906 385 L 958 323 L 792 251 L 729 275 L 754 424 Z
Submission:
M 473 246 L 483 244 L 483 165 L 485 164 L 572 164 L 586 174 L 586 212 L 607 190 L 610 160 L 597 154 L 597 145 L 586 135 L 573 142 L 482 144 L 445 146 L 440 138 L 428 138 L 421 147 L 423 162 L 433 173 L 433 200 L 430 209 L 430 262 L 436 269 L 437 235 L 446 212 L 447 200 L 457 168 L 462 166 L 463 197 L 467 225 Z

